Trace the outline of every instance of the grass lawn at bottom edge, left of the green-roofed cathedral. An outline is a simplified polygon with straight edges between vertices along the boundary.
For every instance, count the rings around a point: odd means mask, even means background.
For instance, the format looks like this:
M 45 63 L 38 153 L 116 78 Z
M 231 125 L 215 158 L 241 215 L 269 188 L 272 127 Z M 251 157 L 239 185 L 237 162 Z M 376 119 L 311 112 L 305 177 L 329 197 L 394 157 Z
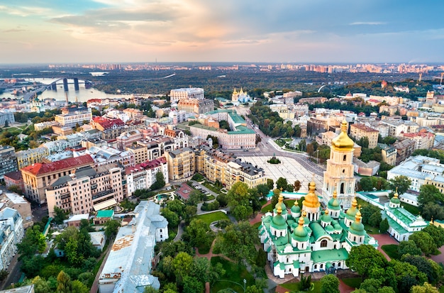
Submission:
M 216 281 L 211 284 L 211 292 L 216 293 L 221 289 L 231 288 L 235 292 L 243 292 L 243 280 L 247 280 L 247 287 L 255 284 L 255 279 L 250 275 L 247 268 L 244 265 L 238 265 L 236 262 L 231 262 L 225 258 L 214 257 L 211 258 L 211 265 L 221 263 L 223 269 L 226 271 L 222 280 Z

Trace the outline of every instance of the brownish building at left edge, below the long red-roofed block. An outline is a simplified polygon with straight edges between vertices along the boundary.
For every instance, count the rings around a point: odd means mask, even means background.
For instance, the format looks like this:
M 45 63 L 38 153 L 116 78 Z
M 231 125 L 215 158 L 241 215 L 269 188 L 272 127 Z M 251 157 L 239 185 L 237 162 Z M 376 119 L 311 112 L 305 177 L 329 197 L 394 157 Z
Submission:
M 33 226 L 33 214 L 30 209 L 30 202 L 15 192 L 2 192 L 0 194 L 0 211 L 6 208 L 14 209 L 20 214 L 23 221 L 23 228 Z

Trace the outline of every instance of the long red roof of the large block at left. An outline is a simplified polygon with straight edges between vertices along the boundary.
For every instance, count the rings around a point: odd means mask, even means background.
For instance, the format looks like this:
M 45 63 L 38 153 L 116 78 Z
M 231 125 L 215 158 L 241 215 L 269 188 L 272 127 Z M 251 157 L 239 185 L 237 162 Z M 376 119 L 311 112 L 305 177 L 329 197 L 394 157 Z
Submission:
M 93 164 L 94 160 L 90 155 L 81 155 L 79 157 L 70 157 L 68 159 L 55 162 L 38 162 L 33 165 L 23 167 L 21 170 L 30 172 L 33 175 L 43 175 L 58 170 L 73 169 L 75 167 L 83 167 L 84 165 Z

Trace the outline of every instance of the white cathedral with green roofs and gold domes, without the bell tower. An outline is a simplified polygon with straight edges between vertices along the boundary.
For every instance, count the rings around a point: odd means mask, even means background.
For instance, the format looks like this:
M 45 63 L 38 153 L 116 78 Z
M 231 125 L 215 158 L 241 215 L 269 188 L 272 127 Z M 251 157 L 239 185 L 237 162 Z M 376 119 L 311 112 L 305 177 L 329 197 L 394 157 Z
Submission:
M 327 209 L 322 211 L 315 190 L 316 184 L 311 182 L 302 209 L 297 204 L 287 209 L 281 194 L 273 213 L 262 216 L 260 243 L 276 277 L 344 270 L 354 246 L 368 244 L 375 249 L 378 246 L 365 231 L 355 198 L 344 213 L 335 191 Z

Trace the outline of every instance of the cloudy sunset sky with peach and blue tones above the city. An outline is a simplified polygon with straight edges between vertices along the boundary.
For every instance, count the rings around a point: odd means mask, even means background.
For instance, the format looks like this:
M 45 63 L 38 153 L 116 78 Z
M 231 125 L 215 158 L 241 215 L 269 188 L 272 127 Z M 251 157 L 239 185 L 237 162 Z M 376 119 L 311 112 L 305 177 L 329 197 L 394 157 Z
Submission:
M 444 62 L 443 0 L 0 0 L 0 64 Z

